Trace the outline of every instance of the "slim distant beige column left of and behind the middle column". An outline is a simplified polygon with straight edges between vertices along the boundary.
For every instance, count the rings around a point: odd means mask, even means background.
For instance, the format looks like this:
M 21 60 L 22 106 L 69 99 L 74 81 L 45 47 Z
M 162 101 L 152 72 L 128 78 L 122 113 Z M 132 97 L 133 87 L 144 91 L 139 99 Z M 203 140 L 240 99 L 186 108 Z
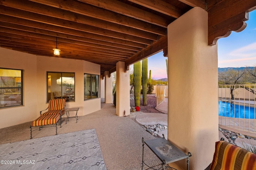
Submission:
M 113 103 L 113 92 L 112 92 L 112 76 L 109 77 L 109 71 L 105 71 L 105 103 Z

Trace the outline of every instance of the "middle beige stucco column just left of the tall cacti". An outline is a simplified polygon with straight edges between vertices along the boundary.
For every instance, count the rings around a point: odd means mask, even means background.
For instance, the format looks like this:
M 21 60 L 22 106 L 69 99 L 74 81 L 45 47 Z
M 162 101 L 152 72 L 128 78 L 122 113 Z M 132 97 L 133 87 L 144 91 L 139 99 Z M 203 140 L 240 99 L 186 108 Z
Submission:
M 124 62 L 116 63 L 116 114 L 130 115 L 130 72 L 124 72 Z

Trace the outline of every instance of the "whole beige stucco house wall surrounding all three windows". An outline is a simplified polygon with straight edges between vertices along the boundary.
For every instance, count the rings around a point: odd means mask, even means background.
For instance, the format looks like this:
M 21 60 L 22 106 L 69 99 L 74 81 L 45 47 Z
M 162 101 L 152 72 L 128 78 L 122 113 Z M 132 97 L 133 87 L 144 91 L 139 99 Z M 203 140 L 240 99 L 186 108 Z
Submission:
M 80 107 L 78 116 L 100 110 L 100 98 L 84 101 L 84 73 L 100 74 L 100 65 L 81 60 L 35 56 L 0 48 L 0 67 L 24 70 L 24 106 L 0 109 L 0 128 L 32 121 L 46 109 L 46 72 L 75 72 L 75 102 L 68 107 Z M 70 112 L 70 116 L 75 113 Z

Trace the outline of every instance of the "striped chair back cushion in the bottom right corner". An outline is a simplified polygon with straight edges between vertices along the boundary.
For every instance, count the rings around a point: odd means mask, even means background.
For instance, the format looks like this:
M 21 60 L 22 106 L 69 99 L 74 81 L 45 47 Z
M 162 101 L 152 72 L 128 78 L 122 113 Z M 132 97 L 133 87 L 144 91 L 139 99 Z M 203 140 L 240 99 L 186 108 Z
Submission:
M 256 154 L 226 141 L 218 141 L 210 170 L 256 170 Z

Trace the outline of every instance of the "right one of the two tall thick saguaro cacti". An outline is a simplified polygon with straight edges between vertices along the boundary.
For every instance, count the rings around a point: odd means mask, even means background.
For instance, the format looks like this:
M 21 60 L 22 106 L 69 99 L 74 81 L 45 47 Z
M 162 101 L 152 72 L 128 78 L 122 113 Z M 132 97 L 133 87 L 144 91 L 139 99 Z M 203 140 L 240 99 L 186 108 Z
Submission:
M 143 106 L 147 105 L 147 85 L 148 85 L 148 59 L 142 60 L 142 98 Z

